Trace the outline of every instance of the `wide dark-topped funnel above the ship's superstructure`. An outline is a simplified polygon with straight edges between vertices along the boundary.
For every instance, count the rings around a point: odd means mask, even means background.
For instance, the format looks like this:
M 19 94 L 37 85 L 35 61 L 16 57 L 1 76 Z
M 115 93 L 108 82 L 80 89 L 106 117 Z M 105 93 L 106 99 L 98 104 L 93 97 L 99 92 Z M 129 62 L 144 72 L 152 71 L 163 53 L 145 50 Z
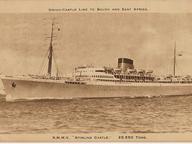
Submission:
M 118 58 L 118 68 L 123 72 L 126 72 L 127 69 L 134 69 L 133 60 L 128 58 Z

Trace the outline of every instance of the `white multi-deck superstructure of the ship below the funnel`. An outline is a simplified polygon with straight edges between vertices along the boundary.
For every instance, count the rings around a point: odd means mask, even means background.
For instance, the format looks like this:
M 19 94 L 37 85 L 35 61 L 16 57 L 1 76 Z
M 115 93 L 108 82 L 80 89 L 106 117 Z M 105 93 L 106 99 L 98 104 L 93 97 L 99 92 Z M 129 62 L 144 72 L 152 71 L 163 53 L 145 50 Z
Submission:
M 100 80 L 100 81 L 154 81 L 151 72 L 145 71 L 127 71 L 113 68 L 94 68 L 78 67 L 75 69 L 74 77 L 76 80 Z

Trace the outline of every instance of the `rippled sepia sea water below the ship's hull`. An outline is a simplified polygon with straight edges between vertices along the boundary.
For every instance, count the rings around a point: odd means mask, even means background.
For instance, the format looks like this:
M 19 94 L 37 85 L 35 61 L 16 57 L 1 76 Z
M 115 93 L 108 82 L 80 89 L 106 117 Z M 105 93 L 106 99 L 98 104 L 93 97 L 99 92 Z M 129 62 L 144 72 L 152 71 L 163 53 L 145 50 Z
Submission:
M 0 133 L 192 132 L 192 96 L 0 102 Z

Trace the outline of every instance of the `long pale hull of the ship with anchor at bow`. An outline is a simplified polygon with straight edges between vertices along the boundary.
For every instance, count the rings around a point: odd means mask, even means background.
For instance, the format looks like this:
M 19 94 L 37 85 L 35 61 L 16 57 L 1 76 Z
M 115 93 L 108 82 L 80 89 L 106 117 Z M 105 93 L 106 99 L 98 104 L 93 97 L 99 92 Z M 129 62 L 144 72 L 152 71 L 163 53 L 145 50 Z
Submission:
M 74 99 L 109 97 L 159 97 L 191 95 L 192 84 L 179 83 L 87 83 L 69 84 L 63 80 L 2 78 L 6 100 Z

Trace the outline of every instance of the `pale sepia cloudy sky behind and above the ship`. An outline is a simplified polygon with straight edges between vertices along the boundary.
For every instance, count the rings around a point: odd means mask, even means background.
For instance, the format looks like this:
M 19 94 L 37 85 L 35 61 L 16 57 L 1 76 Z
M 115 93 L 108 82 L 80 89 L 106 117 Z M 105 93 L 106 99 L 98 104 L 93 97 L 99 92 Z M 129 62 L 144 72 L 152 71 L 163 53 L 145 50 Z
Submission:
M 171 74 L 176 42 L 182 54 L 176 73 L 192 75 L 192 14 L 184 13 L 0 14 L 1 73 L 40 74 L 53 17 L 54 55 L 63 74 L 81 65 L 117 67 L 119 57 L 133 59 L 137 69 Z

